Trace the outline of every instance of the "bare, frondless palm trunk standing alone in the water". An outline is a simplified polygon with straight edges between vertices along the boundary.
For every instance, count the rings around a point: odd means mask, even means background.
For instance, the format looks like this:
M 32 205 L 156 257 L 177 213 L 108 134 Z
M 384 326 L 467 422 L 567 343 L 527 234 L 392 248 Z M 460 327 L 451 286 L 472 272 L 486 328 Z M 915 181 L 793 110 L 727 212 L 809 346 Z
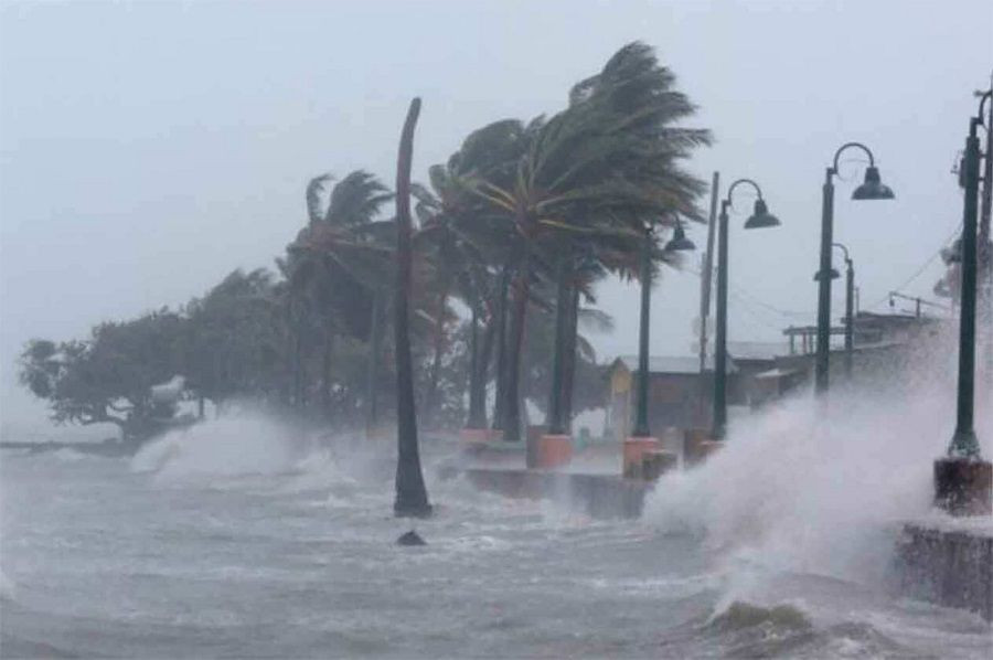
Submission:
M 425 518 L 431 514 L 427 488 L 420 471 L 417 446 L 417 411 L 414 405 L 414 364 L 410 356 L 412 247 L 410 235 L 410 161 L 414 152 L 414 127 L 420 114 L 420 99 L 410 102 L 401 134 L 396 162 L 396 299 L 394 332 L 396 341 L 396 499 L 393 512 L 398 517 Z

